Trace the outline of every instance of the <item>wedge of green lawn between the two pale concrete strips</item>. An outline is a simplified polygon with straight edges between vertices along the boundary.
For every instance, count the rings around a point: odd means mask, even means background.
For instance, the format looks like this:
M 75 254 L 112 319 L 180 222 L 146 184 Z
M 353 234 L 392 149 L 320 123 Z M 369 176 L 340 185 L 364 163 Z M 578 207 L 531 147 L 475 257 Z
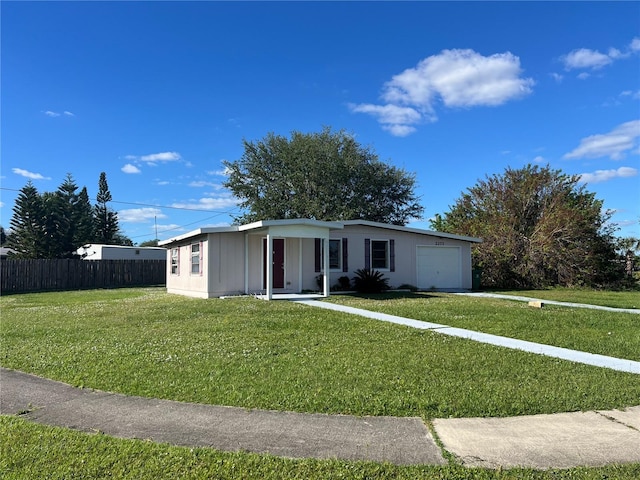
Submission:
M 640 315 L 445 293 L 335 295 L 332 303 L 640 361 Z M 640 402 L 640 400 L 639 400 Z

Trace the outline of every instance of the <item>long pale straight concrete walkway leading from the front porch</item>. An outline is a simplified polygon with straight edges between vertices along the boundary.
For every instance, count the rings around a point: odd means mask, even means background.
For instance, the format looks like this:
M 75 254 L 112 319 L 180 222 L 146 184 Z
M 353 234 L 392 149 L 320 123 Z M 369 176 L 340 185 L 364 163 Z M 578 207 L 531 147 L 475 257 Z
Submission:
M 636 362 L 634 360 L 608 357 L 606 355 L 597 355 L 595 353 L 581 352 L 578 350 L 570 350 L 568 348 L 561 348 L 561 347 L 555 347 L 553 345 L 544 345 L 541 343 L 528 342 L 526 340 L 517 340 L 515 338 L 502 337 L 500 335 L 492 335 L 489 333 L 476 332 L 473 330 L 466 330 L 464 328 L 450 327 L 448 325 L 441 325 L 438 323 L 423 322 L 423 321 L 414 320 L 411 318 L 398 317 L 396 315 L 389 315 L 386 313 L 363 310 L 361 308 L 347 307 L 347 306 L 338 305 L 335 303 L 320 302 L 317 300 L 294 300 L 294 301 L 296 303 L 300 303 L 303 305 L 350 313 L 352 315 L 359 315 L 361 317 L 380 320 L 383 322 L 395 323 L 397 325 L 405 325 L 408 327 L 417 328 L 421 330 L 431 330 L 433 332 L 437 332 L 442 335 L 450 335 L 453 337 L 466 338 L 468 340 L 474 340 L 476 342 L 495 345 L 498 347 L 511 348 L 514 350 L 522 350 L 524 352 L 536 353 L 536 354 L 545 355 L 548 357 L 560 358 L 562 360 L 568 360 L 570 362 L 584 363 L 586 365 L 592 365 L 595 367 L 609 368 L 611 370 L 617 370 L 619 372 L 640 374 L 640 362 Z

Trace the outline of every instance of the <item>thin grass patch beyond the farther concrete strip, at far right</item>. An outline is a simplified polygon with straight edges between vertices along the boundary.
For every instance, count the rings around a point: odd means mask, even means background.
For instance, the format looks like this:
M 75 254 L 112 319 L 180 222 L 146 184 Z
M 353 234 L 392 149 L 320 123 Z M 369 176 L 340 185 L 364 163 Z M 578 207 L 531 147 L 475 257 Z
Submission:
M 640 308 L 640 290 L 593 290 L 586 288 L 549 288 L 544 290 L 500 290 L 503 295 L 519 295 L 540 300 L 557 302 L 586 303 L 613 308 Z

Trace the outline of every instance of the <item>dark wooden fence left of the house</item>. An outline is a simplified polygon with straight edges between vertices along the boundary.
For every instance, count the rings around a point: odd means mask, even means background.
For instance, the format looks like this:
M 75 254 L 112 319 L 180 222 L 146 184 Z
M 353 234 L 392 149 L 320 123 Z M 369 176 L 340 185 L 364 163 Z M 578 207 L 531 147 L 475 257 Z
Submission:
M 166 285 L 166 282 L 166 260 L 0 261 L 2 294 Z

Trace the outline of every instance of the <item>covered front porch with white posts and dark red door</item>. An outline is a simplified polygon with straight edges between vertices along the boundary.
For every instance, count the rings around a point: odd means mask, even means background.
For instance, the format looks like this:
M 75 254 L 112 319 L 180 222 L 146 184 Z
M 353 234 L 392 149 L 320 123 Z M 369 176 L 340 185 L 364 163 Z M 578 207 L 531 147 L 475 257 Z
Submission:
M 329 235 L 342 228 L 338 222 L 307 219 L 266 220 L 238 227 L 245 233 L 245 293 L 273 300 L 316 290 L 321 283 L 321 293 L 315 296 L 328 297 Z M 310 298 L 314 294 L 303 295 Z

